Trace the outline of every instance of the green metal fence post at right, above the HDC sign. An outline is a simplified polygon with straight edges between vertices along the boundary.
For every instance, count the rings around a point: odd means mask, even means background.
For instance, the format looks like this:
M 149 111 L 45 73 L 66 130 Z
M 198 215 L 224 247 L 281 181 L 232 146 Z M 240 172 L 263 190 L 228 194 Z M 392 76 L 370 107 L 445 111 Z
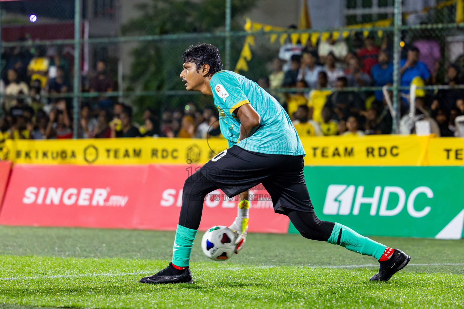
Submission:
M 395 0 L 394 17 L 393 17 L 393 108 L 396 111 L 393 117 L 393 133 L 400 132 L 400 98 L 398 87 L 400 87 L 400 41 L 401 41 L 401 25 L 403 22 L 403 1 Z

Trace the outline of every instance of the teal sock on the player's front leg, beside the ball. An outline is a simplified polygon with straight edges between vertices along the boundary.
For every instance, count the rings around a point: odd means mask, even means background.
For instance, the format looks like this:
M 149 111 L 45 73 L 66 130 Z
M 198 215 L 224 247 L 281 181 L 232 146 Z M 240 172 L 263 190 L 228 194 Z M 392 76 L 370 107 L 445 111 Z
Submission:
M 198 230 L 177 225 L 174 240 L 174 253 L 172 264 L 180 267 L 187 267 L 190 262 L 190 252 L 192 252 L 193 240 Z

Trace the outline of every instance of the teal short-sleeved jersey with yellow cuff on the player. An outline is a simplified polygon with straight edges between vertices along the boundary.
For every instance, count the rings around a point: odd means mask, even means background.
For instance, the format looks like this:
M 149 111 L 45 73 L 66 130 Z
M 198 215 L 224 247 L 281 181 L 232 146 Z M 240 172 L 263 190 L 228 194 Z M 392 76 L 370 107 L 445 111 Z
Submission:
M 238 145 L 268 154 L 305 154 L 287 112 L 256 82 L 232 71 L 219 71 L 211 77 L 210 85 L 219 111 L 221 133 L 229 141 L 229 147 Z M 240 120 L 233 111 L 247 103 L 261 116 L 261 123 L 253 135 L 239 142 Z

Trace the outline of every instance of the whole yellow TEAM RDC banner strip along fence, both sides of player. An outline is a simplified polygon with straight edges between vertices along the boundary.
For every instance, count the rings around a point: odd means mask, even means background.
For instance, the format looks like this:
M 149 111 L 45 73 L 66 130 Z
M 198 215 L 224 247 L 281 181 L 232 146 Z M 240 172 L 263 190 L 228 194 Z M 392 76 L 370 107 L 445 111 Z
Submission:
M 416 135 L 306 137 L 305 165 L 464 165 L 464 139 Z M 0 159 L 33 164 L 204 164 L 225 139 L 7 140 Z

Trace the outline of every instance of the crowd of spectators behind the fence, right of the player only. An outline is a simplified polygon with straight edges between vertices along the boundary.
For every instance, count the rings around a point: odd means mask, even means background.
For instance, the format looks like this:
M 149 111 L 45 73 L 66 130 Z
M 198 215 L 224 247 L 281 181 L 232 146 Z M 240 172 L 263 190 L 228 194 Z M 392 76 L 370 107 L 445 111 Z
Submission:
M 289 40 L 273 60 L 272 73 L 267 79 L 259 79 L 258 84 L 268 86 L 286 108 L 300 136 L 390 134 L 393 119 L 384 93 L 359 89 L 393 85 L 393 50 L 386 36 L 380 41 L 378 46 L 372 35 L 356 37 L 350 49 L 343 38 L 329 37 L 316 45 L 308 40 L 306 46 Z M 447 68 L 440 68 L 440 45 L 433 39 L 406 44 L 401 55 L 400 86 L 464 83 L 464 56 Z M 446 72 L 441 78 L 440 71 Z M 277 88 L 294 90 L 283 94 L 273 90 Z M 298 92 L 295 88 L 309 91 Z M 392 101 L 391 91 L 388 95 Z M 401 124 L 407 124 L 409 90 L 401 90 L 400 95 Z M 415 114 L 431 122 L 432 133 L 458 136 L 455 119 L 464 112 L 462 89 L 417 89 L 415 107 Z

